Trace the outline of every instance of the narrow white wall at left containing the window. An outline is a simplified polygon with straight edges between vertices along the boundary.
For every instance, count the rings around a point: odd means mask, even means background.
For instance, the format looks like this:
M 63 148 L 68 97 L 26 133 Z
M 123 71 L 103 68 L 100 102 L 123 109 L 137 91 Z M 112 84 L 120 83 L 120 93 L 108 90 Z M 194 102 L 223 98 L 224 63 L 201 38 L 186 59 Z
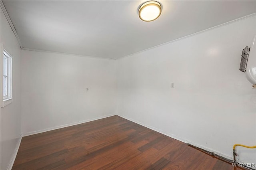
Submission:
M 21 105 L 21 49 L 4 13 L 1 10 L 1 43 L 12 56 L 12 96 L 13 102 L 1 108 L 1 170 L 6 170 L 20 138 Z M 2 94 L 1 94 L 2 95 Z

